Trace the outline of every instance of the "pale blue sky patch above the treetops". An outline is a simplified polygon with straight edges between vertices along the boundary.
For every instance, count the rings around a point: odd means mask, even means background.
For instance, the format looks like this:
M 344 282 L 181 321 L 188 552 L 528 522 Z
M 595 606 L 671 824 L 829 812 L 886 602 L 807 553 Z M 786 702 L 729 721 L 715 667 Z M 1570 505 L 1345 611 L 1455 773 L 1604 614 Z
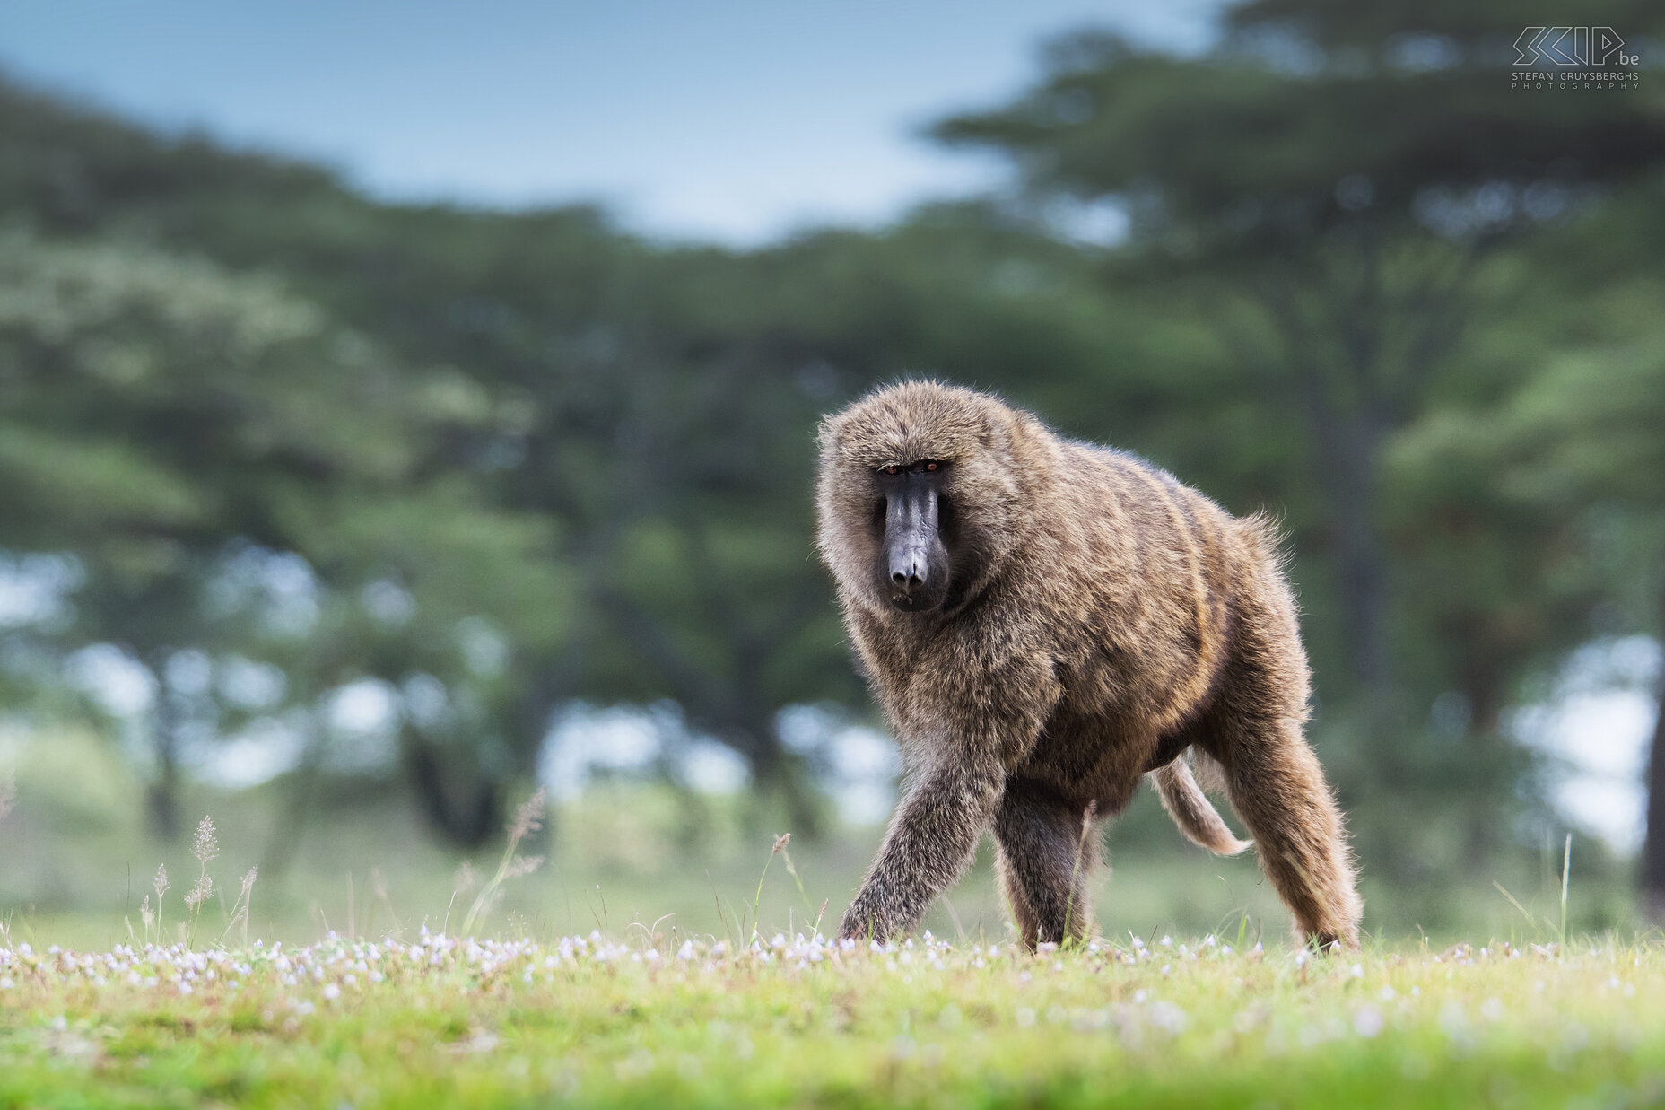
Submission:
M 400 198 L 604 200 L 756 243 L 977 192 L 917 138 L 1081 25 L 1207 45 L 1219 0 L 5 0 L 0 67 L 166 128 L 321 158 Z

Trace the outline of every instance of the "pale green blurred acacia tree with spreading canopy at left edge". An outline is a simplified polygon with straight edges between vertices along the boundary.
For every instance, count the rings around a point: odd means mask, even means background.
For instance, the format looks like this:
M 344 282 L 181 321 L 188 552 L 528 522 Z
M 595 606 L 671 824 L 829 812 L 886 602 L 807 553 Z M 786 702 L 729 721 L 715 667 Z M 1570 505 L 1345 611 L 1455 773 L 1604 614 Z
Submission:
M 313 558 L 350 597 L 405 570 L 425 615 L 453 623 L 524 612 L 519 587 L 548 577 L 524 560 L 528 528 L 463 490 L 398 485 L 420 430 L 406 377 L 273 278 L 120 242 L 12 233 L 0 248 L 0 542 L 73 550 L 85 582 L 63 635 L 152 672 L 160 833 L 180 828 L 173 662 L 248 643 L 205 597 L 233 542 Z M 293 687 L 318 697 L 365 673 L 360 648 L 338 635 L 310 672 L 290 658 Z

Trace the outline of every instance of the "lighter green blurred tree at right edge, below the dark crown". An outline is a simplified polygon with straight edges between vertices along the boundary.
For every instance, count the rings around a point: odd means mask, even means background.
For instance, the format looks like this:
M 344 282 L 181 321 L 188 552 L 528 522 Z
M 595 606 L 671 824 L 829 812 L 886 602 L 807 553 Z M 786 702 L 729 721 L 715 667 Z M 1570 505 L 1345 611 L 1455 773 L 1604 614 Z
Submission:
M 1532 372 L 1508 397 L 1445 410 L 1400 443 L 1397 462 L 1409 468 L 1410 488 L 1440 490 L 1432 498 L 1437 520 L 1498 513 L 1517 522 L 1507 557 L 1532 573 L 1479 602 L 1508 632 L 1510 642 L 1495 645 L 1505 657 L 1532 652 L 1550 668 L 1557 650 L 1592 633 L 1647 632 L 1665 643 L 1662 213 L 1653 182 L 1538 243 L 1537 267 L 1588 290 L 1543 313 L 1577 317 L 1577 328 L 1548 323 L 1563 343 L 1543 355 L 1542 320 L 1520 325 L 1515 340 L 1537 347 L 1538 357 L 1518 360 Z M 1578 342 L 1567 343 L 1567 335 Z M 1447 537 L 1444 570 L 1474 588 L 1485 575 L 1450 568 L 1487 550 L 1470 533 L 1459 525 Z M 1435 603 L 1460 617 L 1464 603 L 1445 598 L 1447 590 Z M 1665 672 L 1660 683 L 1665 707 Z M 1665 920 L 1665 712 L 1655 717 L 1650 745 L 1638 878 L 1643 908 Z

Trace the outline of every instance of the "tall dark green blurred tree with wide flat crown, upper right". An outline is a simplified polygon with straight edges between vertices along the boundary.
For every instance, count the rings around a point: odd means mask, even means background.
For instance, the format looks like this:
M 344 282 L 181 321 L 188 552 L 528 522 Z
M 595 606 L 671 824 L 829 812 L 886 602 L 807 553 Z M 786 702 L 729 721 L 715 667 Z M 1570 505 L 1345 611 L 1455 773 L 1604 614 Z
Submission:
M 1658 30 L 1642 3 L 1563 17 Z M 1229 10 L 1217 55 L 1077 35 L 1017 103 L 937 127 L 1011 153 L 1037 193 L 1119 205 L 1127 280 L 1177 280 L 1245 380 L 1304 423 L 1347 672 L 1380 702 L 1392 690 L 1380 460 L 1452 372 L 1480 310 L 1479 267 L 1665 162 L 1657 100 L 1510 90 L 1515 18 L 1245 3 Z

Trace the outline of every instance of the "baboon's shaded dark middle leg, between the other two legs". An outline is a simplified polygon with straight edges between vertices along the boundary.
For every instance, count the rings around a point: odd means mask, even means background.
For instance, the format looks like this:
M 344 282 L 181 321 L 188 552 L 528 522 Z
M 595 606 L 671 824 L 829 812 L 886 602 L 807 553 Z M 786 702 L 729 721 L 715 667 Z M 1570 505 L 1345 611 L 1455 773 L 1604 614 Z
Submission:
M 994 817 L 994 867 L 1029 948 L 1092 932 L 1087 878 L 1097 863 L 1097 835 L 1087 825 L 1082 807 L 1039 783 L 1007 780 Z

